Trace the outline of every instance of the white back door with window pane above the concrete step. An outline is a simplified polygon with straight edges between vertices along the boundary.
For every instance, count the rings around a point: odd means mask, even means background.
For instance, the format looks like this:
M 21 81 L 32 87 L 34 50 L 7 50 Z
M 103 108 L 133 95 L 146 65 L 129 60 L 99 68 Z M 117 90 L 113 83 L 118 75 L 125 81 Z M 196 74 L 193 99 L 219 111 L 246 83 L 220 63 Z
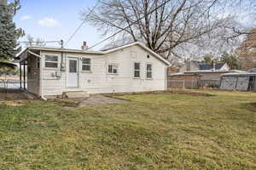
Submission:
M 67 59 L 67 87 L 79 87 L 79 59 L 77 58 Z

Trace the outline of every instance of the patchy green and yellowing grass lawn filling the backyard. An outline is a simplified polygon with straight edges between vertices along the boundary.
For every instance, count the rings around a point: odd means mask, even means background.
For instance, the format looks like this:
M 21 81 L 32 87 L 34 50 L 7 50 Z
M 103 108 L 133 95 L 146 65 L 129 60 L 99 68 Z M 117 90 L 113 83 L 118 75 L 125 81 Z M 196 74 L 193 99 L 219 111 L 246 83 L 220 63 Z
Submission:
M 0 105 L 0 169 L 256 169 L 256 94 L 193 92 Z

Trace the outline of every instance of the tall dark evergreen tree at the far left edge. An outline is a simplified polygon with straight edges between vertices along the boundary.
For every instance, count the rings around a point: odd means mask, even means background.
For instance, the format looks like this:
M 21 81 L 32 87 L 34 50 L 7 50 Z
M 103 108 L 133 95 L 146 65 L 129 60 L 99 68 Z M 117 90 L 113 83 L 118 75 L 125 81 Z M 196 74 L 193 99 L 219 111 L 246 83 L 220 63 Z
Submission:
M 0 0 L 0 68 L 14 67 L 11 62 L 21 50 L 17 39 L 24 36 L 24 31 L 16 29 L 13 21 L 19 9 L 20 0 L 15 0 L 13 3 Z

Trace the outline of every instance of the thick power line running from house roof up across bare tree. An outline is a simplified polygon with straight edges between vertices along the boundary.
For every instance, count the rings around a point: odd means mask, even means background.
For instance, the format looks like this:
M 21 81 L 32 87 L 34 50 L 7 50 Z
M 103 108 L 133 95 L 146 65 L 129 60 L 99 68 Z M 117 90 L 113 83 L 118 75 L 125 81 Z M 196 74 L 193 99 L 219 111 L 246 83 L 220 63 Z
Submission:
M 154 13 L 154 11 L 156 11 L 157 9 L 163 7 L 164 5 L 166 5 L 166 3 L 170 3 L 171 1 L 172 1 L 172 0 L 168 0 L 168 1 L 166 1 L 165 3 L 162 3 L 160 6 L 154 8 L 152 11 L 148 12 L 147 14 L 144 14 L 143 17 L 139 18 L 139 19 L 136 20 L 136 21 L 133 21 L 130 25 L 126 26 L 125 28 L 122 28 L 120 31 L 117 31 L 117 32 L 114 33 L 112 36 L 109 36 L 109 37 L 105 38 L 105 39 L 102 40 L 101 42 L 97 42 L 95 45 L 91 46 L 90 48 L 94 48 L 94 47 L 98 46 L 99 44 L 101 44 L 102 42 L 105 42 L 105 41 L 107 41 L 108 39 L 110 39 L 110 38 L 112 38 L 112 37 L 118 35 L 121 31 L 125 31 L 127 28 L 129 28 L 130 26 L 136 24 L 138 21 L 143 20 L 143 18 L 145 18 L 146 15 Z M 87 48 L 87 49 L 90 49 L 90 48 Z

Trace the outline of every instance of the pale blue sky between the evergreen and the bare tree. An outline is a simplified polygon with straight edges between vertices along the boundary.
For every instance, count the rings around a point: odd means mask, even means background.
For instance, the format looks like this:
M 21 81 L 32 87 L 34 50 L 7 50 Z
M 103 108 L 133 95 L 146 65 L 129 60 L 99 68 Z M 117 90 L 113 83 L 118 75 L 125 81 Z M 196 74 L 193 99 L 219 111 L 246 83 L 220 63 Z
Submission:
M 21 8 L 15 15 L 17 27 L 22 28 L 32 37 L 43 38 L 44 41 L 61 39 L 67 41 L 81 23 L 79 15 L 81 11 L 84 8 L 94 7 L 96 0 L 20 0 L 20 3 Z M 80 48 L 83 41 L 90 46 L 101 39 L 101 33 L 85 23 L 66 48 Z M 20 40 L 26 41 L 26 37 Z M 58 47 L 58 44 L 48 45 Z

